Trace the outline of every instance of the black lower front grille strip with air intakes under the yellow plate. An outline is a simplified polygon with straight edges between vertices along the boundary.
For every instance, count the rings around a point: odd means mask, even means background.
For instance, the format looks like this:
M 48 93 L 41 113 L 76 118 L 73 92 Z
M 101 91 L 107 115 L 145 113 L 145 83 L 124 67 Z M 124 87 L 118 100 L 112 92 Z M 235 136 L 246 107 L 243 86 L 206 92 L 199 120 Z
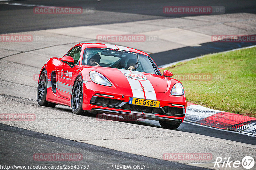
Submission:
M 166 116 L 175 116 L 175 117 L 183 117 L 185 115 L 185 109 L 183 108 L 176 108 L 176 107 L 148 107 L 148 106 L 139 106 L 129 104 L 127 102 L 123 102 L 121 100 L 106 98 L 106 97 L 99 97 L 99 96 L 92 96 L 90 104 L 108 108 L 115 108 L 115 109 L 123 109 L 123 110 L 132 110 L 132 111 L 139 111 L 145 113 L 155 113 L 160 115 Z

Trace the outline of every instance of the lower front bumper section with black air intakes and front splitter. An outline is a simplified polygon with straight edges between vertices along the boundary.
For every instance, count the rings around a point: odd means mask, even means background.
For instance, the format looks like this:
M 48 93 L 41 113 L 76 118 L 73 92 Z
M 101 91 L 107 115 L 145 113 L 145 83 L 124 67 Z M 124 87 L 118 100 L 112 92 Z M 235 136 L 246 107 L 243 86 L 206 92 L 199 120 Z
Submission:
M 185 108 L 160 107 L 153 108 L 147 106 L 132 105 L 127 102 L 99 96 L 92 96 L 90 105 L 93 105 L 91 112 L 110 113 L 114 115 L 130 115 L 150 120 L 168 120 L 182 123 L 185 117 Z M 135 119 L 136 120 L 136 119 Z

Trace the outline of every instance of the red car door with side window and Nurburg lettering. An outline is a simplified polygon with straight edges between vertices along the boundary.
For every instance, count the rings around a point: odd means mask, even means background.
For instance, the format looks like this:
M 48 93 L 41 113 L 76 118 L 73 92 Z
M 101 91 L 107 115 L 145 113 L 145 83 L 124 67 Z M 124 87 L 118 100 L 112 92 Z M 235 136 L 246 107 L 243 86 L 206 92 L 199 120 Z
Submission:
M 72 93 L 72 79 L 75 78 L 73 73 L 77 69 L 77 65 L 79 64 L 81 54 L 81 46 L 75 46 L 71 50 L 68 51 L 66 56 L 70 56 L 74 58 L 75 67 L 71 68 L 68 64 L 63 63 L 59 67 L 58 72 L 58 81 L 56 81 L 57 92 L 61 97 L 65 97 L 67 99 L 71 99 Z

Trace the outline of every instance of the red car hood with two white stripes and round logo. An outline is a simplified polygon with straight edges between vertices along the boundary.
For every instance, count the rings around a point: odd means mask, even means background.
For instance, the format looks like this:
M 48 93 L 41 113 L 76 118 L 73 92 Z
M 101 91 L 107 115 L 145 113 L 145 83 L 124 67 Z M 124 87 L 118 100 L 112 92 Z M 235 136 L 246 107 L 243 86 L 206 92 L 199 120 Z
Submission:
M 125 89 L 165 93 L 168 88 L 168 78 L 156 74 L 107 67 L 94 71 L 106 76 L 117 87 Z

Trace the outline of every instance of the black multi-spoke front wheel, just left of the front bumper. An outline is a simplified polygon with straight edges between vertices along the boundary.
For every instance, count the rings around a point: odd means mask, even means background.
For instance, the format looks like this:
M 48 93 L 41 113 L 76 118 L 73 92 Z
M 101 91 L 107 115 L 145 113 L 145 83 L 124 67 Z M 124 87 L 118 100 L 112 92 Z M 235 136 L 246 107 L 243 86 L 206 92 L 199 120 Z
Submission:
M 72 90 L 71 108 L 76 115 L 87 116 L 88 113 L 83 110 L 84 85 L 82 77 L 76 80 Z

